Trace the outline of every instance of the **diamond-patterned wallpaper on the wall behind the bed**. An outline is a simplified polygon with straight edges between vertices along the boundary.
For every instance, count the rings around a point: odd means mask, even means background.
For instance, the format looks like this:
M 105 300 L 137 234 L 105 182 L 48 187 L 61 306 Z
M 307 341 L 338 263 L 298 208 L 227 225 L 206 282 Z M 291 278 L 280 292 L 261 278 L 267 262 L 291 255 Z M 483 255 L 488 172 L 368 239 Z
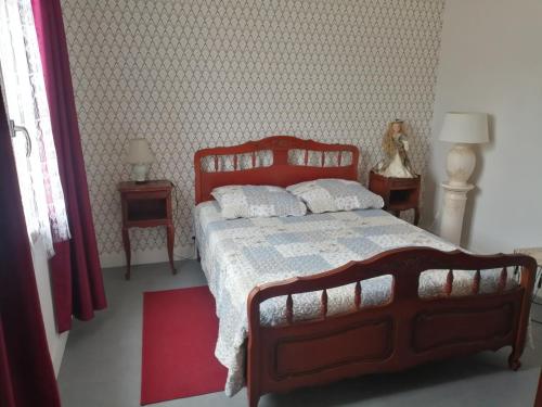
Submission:
M 177 242 L 191 243 L 196 150 L 270 135 L 357 144 L 382 157 L 406 120 L 424 174 L 444 0 L 63 0 L 102 255 L 121 252 L 116 185 L 127 141 L 145 137 L 151 176 L 177 189 Z M 165 245 L 159 229 L 132 249 Z

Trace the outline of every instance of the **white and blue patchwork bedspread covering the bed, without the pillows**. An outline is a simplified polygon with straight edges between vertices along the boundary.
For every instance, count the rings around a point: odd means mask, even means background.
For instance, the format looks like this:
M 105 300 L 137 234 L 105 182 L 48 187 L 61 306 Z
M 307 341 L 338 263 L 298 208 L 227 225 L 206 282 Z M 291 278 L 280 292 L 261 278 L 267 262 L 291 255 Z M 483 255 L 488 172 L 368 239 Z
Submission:
M 202 267 L 220 320 L 215 355 L 229 370 L 224 389 L 229 396 L 245 384 L 246 302 L 254 287 L 314 275 L 401 246 L 456 249 L 380 209 L 227 220 L 220 216 L 216 202 L 204 202 L 196 206 L 194 215 Z M 447 272 L 425 271 L 421 276 L 420 295 L 441 293 Z M 499 274 L 483 270 L 480 291 L 495 291 Z M 472 271 L 454 271 L 452 295 L 469 293 L 472 281 Z M 390 288 L 390 276 L 362 281 L 362 306 L 384 303 Z M 350 310 L 353 292 L 353 284 L 328 290 L 328 314 Z M 293 298 L 295 318 L 310 318 L 320 311 L 320 292 L 297 294 Z M 284 297 L 264 302 L 260 308 L 261 322 L 284 321 Z

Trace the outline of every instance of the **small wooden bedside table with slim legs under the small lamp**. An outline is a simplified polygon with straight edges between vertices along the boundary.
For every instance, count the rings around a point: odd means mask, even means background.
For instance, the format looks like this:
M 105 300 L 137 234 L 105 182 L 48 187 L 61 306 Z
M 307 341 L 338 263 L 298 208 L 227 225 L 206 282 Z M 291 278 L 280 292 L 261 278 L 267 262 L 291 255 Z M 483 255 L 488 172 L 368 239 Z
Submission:
M 133 181 L 120 182 L 120 203 L 122 205 L 122 243 L 126 252 L 126 275 L 130 279 L 130 228 L 152 228 L 165 226 L 167 228 L 167 246 L 171 272 L 177 270 L 173 266 L 175 227 L 171 211 L 171 190 L 173 186 L 167 180 L 136 183 Z

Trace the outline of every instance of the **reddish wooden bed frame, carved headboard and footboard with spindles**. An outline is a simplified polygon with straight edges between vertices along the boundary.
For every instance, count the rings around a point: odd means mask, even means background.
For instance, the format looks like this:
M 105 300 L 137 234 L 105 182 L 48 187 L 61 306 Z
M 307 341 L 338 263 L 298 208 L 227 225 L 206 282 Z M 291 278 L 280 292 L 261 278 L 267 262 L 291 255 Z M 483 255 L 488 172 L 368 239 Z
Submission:
M 270 151 L 272 164 L 257 167 L 256 155 Z M 288 151 L 306 151 L 301 163 L 288 162 Z M 343 165 L 340 152 L 351 154 Z M 336 166 L 326 163 L 327 152 L 339 154 Z M 309 160 L 321 154 L 320 166 Z M 237 156 L 251 158 L 255 168 L 241 168 Z M 220 156 L 231 156 L 229 169 Z M 302 155 L 301 155 L 302 156 Z M 211 160 L 205 171 L 203 160 Z M 211 200 L 214 188 L 224 185 L 274 185 L 286 187 L 318 178 L 358 178 L 359 151 L 353 145 L 325 144 L 295 137 L 275 136 L 241 145 L 196 152 L 196 203 Z M 250 160 L 249 160 L 250 162 Z M 481 294 L 480 275 L 501 269 L 495 293 Z M 247 301 L 248 343 L 246 383 L 250 407 L 261 395 L 300 386 L 319 385 L 364 373 L 396 371 L 418 364 L 512 346 L 511 369 L 520 367 L 530 314 L 530 294 L 537 264 L 524 255 L 469 255 L 429 247 L 404 247 L 383 252 L 363 262 L 350 262 L 319 275 L 256 287 Z M 420 275 L 444 269 L 447 284 L 441 295 L 418 296 Z M 519 285 L 506 290 L 511 272 L 520 269 Z M 453 270 L 473 270 L 472 295 L 452 296 Z M 361 307 L 360 281 L 391 275 L 392 295 L 387 304 Z M 327 290 L 354 284 L 352 309 L 327 315 Z M 321 291 L 319 318 L 299 321 L 294 316 L 293 294 Z M 286 323 L 260 325 L 260 304 L 284 296 Z

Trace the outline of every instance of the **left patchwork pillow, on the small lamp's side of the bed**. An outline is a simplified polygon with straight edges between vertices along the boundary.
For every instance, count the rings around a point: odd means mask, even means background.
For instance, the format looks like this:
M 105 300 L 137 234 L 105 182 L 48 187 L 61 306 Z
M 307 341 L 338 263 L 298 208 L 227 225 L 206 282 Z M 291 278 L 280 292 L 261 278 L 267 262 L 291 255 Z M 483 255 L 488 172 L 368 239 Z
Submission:
M 284 188 L 271 186 L 227 186 L 211 195 L 227 219 L 271 216 L 302 216 L 307 206 Z

